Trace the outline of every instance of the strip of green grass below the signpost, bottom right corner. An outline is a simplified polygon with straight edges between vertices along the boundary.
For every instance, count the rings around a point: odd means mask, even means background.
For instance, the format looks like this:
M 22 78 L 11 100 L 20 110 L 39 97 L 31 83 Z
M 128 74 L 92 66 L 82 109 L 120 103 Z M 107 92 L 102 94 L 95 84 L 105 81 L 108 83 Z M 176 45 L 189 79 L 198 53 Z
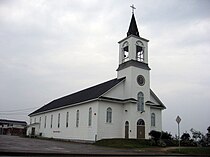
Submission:
M 169 150 L 171 153 L 189 154 L 189 155 L 210 155 L 210 147 L 182 147 Z

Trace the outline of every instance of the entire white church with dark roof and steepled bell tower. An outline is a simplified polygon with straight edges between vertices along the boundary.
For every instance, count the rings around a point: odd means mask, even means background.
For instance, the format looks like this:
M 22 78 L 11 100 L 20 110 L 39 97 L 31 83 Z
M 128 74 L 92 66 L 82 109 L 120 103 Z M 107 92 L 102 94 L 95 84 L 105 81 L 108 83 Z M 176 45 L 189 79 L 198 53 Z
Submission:
M 140 36 L 132 13 L 119 43 L 117 78 L 58 98 L 29 114 L 29 136 L 97 141 L 148 139 L 162 131 L 166 109 L 150 88 L 149 40 Z

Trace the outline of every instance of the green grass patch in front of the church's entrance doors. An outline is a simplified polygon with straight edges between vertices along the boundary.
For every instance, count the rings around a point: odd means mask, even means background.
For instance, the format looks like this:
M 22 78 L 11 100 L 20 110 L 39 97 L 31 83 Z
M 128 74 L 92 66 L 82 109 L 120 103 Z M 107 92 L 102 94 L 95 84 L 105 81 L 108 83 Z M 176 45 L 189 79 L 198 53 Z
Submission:
M 137 139 L 103 139 L 95 143 L 98 146 L 107 146 L 115 148 L 147 148 L 151 147 L 149 140 Z

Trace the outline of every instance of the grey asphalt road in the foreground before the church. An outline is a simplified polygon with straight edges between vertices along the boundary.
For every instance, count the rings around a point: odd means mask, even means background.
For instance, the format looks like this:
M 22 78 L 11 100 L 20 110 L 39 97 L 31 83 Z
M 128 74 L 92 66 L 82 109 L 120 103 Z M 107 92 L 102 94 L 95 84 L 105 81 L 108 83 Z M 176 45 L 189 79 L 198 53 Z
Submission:
M 0 135 L 0 156 L 166 156 L 164 152 L 116 149 L 46 139 Z M 169 155 L 170 156 L 170 155 Z M 174 156 L 174 155 L 172 155 Z

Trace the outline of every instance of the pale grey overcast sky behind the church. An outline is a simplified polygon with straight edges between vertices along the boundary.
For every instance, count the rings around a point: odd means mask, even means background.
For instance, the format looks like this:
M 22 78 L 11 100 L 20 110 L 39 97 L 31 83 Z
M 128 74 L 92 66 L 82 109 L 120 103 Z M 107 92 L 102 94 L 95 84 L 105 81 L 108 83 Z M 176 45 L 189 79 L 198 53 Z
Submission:
M 210 126 L 209 0 L 0 0 L 0 119 L 116 77 L 134 4 L 163 130 Z

